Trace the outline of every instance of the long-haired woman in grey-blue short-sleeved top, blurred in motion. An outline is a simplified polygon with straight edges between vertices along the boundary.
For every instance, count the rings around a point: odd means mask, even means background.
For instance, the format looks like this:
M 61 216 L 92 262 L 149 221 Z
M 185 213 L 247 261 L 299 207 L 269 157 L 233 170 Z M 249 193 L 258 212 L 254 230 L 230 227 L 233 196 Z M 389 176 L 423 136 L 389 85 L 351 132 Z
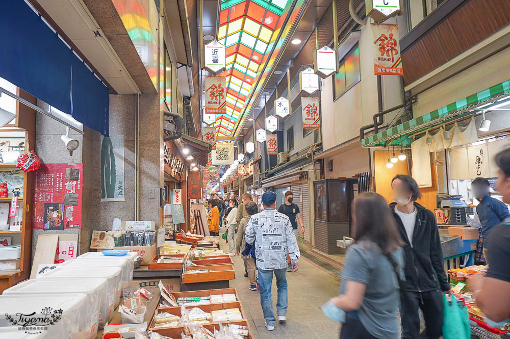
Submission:
M 353 201 L 354 243 L 347 248 L 339 296 L 329 300 L 346 312 L 341 339 L 398 337 L 403 242 L 387 206 L 383 197 L 372 192 Z

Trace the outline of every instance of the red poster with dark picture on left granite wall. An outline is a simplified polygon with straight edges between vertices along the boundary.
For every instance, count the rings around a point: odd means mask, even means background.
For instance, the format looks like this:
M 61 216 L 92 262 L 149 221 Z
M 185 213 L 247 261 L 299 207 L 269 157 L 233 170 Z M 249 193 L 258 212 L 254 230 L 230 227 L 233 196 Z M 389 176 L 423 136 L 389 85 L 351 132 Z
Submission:
M 34 179 L 34 229 L 82 227 L 83 164 L 41 164 Z

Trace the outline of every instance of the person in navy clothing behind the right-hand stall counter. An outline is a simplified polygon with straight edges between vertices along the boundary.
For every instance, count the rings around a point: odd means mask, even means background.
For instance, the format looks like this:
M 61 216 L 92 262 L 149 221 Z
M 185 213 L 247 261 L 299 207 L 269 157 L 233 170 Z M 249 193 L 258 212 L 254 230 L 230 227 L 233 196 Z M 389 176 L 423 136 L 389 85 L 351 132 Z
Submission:
M 473 191 L 474 197 L 480 202 L 476 206 L 476 214 L 481 225 L 481 236 L 483 239 L 483 256 L 485 261 L 489 264 L 487 258 L 487 241 L 489 233 L 492 228 L 505 221 L 510 217 L 508 214 L 508 208 L 506 205 L 496 198 L 491 197 L 489 180 L 486 178 L 476 178 L 471 182 L 471 190 Z

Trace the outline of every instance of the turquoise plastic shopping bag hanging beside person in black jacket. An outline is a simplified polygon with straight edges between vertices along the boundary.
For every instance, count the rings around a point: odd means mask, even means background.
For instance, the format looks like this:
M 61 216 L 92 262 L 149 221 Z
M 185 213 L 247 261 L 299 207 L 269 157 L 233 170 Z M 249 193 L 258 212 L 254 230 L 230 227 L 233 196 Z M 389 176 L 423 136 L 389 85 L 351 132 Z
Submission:
M 470 339 L 471 328 L 467 307 L 459 305 L 455 296 L 447 297 L 446 294 L 443 294 L 443 304 L 443 337 L 445 339 Z

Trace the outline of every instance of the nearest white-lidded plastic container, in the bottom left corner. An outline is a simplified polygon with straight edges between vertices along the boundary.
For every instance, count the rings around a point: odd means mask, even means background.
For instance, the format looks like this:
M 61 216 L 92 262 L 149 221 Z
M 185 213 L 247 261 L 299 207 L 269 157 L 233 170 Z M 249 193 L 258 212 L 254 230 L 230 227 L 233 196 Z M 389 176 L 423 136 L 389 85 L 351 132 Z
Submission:
M 0 295 L 3 314 L 0 317 L 0 328 L 12 327 L 18 332 L 45 333 L 44 339 L 82 339 L 84 336 L 79 336 L 79 328 L 85 327 L 87 319 L 82 319 L 80 315 L 84 308 L 89 307 L 86 299 L 83 293 Z M 24 327 L 23 331 L 19 330 L 20 327 Z

